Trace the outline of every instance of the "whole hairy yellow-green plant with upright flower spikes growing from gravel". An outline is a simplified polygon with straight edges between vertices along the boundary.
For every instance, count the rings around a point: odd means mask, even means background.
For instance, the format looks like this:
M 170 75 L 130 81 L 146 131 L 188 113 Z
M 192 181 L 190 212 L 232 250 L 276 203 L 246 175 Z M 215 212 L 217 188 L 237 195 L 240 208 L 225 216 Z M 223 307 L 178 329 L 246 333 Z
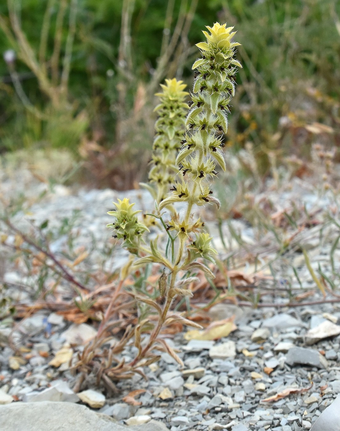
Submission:
M 157 225 L 163 228 L 163 237 L 167 237 L 166 247 L 161 247 L 158 236 L 146 246 L 148 228 L 138 220 L 138 212 L 128 199 L 115 203 L 115 210 L 109 212 L 114 221 L 108 227 L 131 253 L 131 259 L 122 269 L 122 279 L 148 264 L 158 265 L 161 274 L 158 293 L 153 297 L 137 293 L 133 288 L 129 291 L 139 306 L 143 304 L 144 310 L 145 306 L 149 307 L 149 312 L 140 313 L 138 324 L 129 327 L 124 340 L 111 347 L 110 360 L 100 368 L 100 375 L 106 378 L 128 378 L 134 372 L 143 375 L 143 367 L 159 360 L 159 351 L 170 354 L 183 365 L 176 351 L 160 336 L 161 331 L 175 322 L 200 328 L 170 309 L 176 297 L 192 296 L 189 286 L 197 280 L 198 270 L 213 278 L 207 263 L 214 262 L 216 251 L 212 238 L 204 231 L 204 222 L 193 212 L 195 207 L 207 203 L 219 206 L 212 196 L 210 183 L 218 174 L 217 164 L 225 170 L 223 134 L 228 128 L 230 101 L 235 92 L 234 76 L 241 66 L 234 58 L 239 44 L 231 40 L 235 34 L 233 28 L 215 23 L 207 29 L 209 32 L 203 31 L 206 41 L 197 44 L 201 57 L 193 64 L 196 71 L 190 102 L 184 101 L 185 85 L 175 79 L 167 80 L 162 86 L 163 92 L 158 94 L 159 119 L 150 182 L 144 187 L 155 198 L 155 209 L 147 216 L 158 219 Z M 184 211 L 178 212 L 177 204 L 184 206 Z M 156 319 L 150 319 L 152 313 L 158 315 Z M 125 343 L 132 341 L 137 353 L 131 362 L 115 356 L 122 352 Z M 91 356 L 91 361 L 94 360 L 95 356 Z

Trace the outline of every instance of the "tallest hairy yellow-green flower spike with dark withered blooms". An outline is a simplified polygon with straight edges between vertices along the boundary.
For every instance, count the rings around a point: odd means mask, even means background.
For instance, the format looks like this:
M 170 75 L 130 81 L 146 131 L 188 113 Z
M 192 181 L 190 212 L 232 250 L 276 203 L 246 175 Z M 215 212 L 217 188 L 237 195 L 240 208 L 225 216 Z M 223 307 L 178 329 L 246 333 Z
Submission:
M 225 170 L 222 136 L 228 128 L 229 103 L 235 93 L 234 75 L 241 65 L 234 59 L 234 47 L 239 44 L 231 41 L 233 27 L 215 23 L 207 28 L 210 34 L 203 31 L 206 42 L 197 44 L 202 58 L 193 64 L 197 72 L 186 119 L 189 131 L 176 159 L 185 181 L 175 184 L 172 195 L 160 204 L 160 209 L 178 201 L 218 204 L 211 196 L 209 181 L 217 175 L 216 163 Z

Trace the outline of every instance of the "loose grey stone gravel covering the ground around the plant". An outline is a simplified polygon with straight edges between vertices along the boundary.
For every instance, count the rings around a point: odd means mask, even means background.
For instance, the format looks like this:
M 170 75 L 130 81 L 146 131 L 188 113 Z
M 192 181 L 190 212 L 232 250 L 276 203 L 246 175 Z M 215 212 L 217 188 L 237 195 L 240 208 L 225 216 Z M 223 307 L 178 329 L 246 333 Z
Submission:
M 25 189 L 26 195 L 34 199 L 44 188 L 45 184 L 24 172 L 14 178 L 4 175 L 1 194 L 6 198 Z M 63 218 L 71 218 L 77 211 L 80 216 L 74 222 L 73 229 L 77 231 L 75 245 L 88 246 L 89 237 L 94 238 L 97 253 L 90 255 L 91 260 L 87 264 L 96 269 L 100 253 L 111 237 L 105 229 L 106 223 L 110 222 L 106 211 L 111 209 L 112 200 L 117 197 L 131 197 L 131 201 L 136 201 L 143 210 L 152 206 L 152 199 L 142 191 L 118 193 L 56 186 L 53 193 L 48 192 L 43 200 L 30 205 L 28 214 L 25 209 L 20 211 L 15 218 L 16 225 L 25 229 L 28 219 L 34 219 L 37 225 L 49 219 L 49 228 L 58 229 Z M 259 202 L 262 198 L 257 197 Z M 276 211 L 293 204 L 305 205 L 307 211 L 316 214 L 314 218 L 322 222 L 324 210 L 334 205 L 332 197 L 318 196 L 309 184 L 299 179 L 293 181 L 290 190 L 280 194 L 271 191 L 270 199 Z M 209 213 L 206 217 L 209 219 Z M 273 241 L 270 234 L 260 241 L 259 232 L 242 219 L 233 221 L 233 225 L 249 247 L 266 244 L 266 240 Z M 208 226 L 221 256 L 237 250 L 239 246 L 230 236 L 230 231 L 224 231 L 225 238 L 229 235 L 225 242 L 230 244 L 230 250 L 225 250 L 215 223 L 209 222 Z M 333 224 L 325 223 L 323 226 L 322 235 L 318 224 L 311 225 L 308 234 L 297 235 L 293 243 L 297 246 L 273 262 L 274 287 L 280 290 L 289 282 L 302 293 L 315 287 L 303 263 L 299 244 L 308 250 L 315 271 L 321 265 L 324 274 L 331 274 L 329 256 L 339 232 Z M 62 250 L 66 241 L 67 237 L 60 237 L 52 243 L 53 252 Z M 274 257 L 275 253 L 268 247 L 263 262 Z M 122 250 L 115 250 L 106 262 L 106 269 L 118 269 L 126 257 Z M 301 284 L 293 279 L 292 262 L 299 269 Z M 339 247 L 334 250 L 334 269 L 337 272 L 340 269 Z M 22 274 L 13 266 L 6 267 L 3 272 L 4 281 L 22 280 Z M 318 299 L 321 295 L 317 293 L 308 298 Z M 27 297 L 22 297 L 22 300 L 27 300 Z M 267 294 L 262 300 L 279 306 L 284 298 Z M 137 375 L 119 382 L 121 393 L 112 398 L 104 397 L 101 389 L 94 386 L 91 388 L 97 393 L 74 394 L 71 388 L 75 377 L 69 372 L 67 363 L 59 367 L 49 364 L 61 349 L 66 354 L 71 352 L 71 355 L 81 351 L 84 340 L 94 335 L 91 326 L 70 324 L 54 313 L 38 312 L 23 321 L 14 333 L 14 339 L 22 340 L 22 345 L 28 348 L 22 351 L 26 354 L 26 359 L 22 359 L 8 345 L 10 328 L 0 325 L 0 404 L 13 400 L 75 403 L 80 398 L 86 405 L 127 425 L 155 419 L 172 431 L 309 430 L 340 393 L 340 306 L 337 303 L 291 309 L 278 306 L 256 310 L 249 307 L 235 309 L 228 304 L 214 306 L 210 313 L 216 320 L 237 315 L 237 330 L 218 341 L 188 342 L 183 334 L 175 335 L 168 343 L 181 350 L 179 356 L 185 369 L 179 369 L 168 354 L 162 353 L 160 362 L 148 367 L 148 381 Z M 311 329 L 313 331 L 309 332 Z M 134 348 L 131 348 L 125 353 L 126 359 L 132 358 L 133 354 Z M 145 390 L 137 398 L 140 405 L 128 405 L 123 397 L 136 389 Z M 285 391 L 291 394 L 264 401 Z M 338 419 L 340 423 L 340 417 Z

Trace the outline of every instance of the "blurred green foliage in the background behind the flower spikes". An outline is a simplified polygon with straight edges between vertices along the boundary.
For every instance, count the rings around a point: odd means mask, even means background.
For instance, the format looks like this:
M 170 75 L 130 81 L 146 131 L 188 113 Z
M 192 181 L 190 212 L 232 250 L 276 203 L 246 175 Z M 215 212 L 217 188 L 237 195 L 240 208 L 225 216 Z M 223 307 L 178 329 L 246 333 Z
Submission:
M 52 8 L 47 59 L 53 53 L 55 20 L 62 1 L 54 2 Z M 69 19 L 69 0 L 65 1 L 62 54 Z M 34 73 L 19 59 L 15 62 L 22 90 L 32 106 L 47 114 L 43 119 L 23 105 L 8 65 L 0 58 L 0 152 L 32 146 L 74 151 L 81 143 L 84 146 L 84 141 L 90 141 L 104 149 L 122 148 L 115 154 L 126 157 L 131 139 L 137 152 L 150 150 L 153 127 L 152 122 L 148 123 L 151 110 L 147 106 L 154 103 L 154 89 L 149 84 L 159 61 L 171 1 L 78 0 L 67 105 L 52 109 Z M 8 3 L 14 4 L 22 30 L 37 53 L 47 0 Z M 128 47 L 122 47 L 122 10 L 126 3 L 132 12 L 131 41 L 127 39 Z M 189 0 L 174 0 L 170 36 L 181 8 L 189 7 Z M 0 16 L 7 25 L 8 15 L 3 1 Z M 243 65 L 231 109 L 229 144 L 237 148 L 252 141 L 257 153 L 264 155 L 263 160 L 260 158 L 262 170 L 268 151 L 281 148 L 286 154 L 292 150 L 299 155 L 308 153 L 306 147 L 315 135 L 306 131 L 306 124 L 327 124 L 332 133 L 325 137 L 320 133 L 318 139 L 339 146 L 339 17 L 340 3 L 336 0 L 198 0 L 190 29 L 181 34 L 178 42 L 185 47 L 184 58 L 173 63 L 177 70 L 170 65 L 161 78 L 176 75 L 190 87 L 190 64 L 197 55 L 197 50 L 190 47 L 202 40 L 205 25 L 228 22 L 235 26 L 237 41 L 242 44 L 237 56 Z M 0 27 L 0 52 L 9 48 L 12 44 Z M 128 70 L 119 64 L 122 48 L 125 59 L 131 52 Z M 61 55 L 60 73 L 62 61 Z M 143 99 L 139 116 L 135 113 L 138 98 Z

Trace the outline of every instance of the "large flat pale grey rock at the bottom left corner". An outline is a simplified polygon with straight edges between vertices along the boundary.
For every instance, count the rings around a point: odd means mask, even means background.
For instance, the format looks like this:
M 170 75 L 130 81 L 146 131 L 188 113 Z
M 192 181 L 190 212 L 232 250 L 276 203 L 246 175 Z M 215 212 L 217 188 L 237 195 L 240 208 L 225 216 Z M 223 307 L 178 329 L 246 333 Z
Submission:
M 164 424 L 125 427 L 109 416 L 73 403 L 43 401 L 0 406 L 1 431 L 166 431 Z

